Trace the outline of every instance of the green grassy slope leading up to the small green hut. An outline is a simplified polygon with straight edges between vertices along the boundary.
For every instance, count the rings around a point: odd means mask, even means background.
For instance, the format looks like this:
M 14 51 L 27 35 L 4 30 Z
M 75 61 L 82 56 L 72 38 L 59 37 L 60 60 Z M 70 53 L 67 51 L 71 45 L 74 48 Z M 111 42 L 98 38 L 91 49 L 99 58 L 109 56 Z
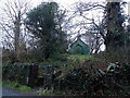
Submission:
M 63 73 L 81 65 L 84 61 L 93 59 L 90 54 L 58 54 L 39 63 L 39 76 L 43 74 L 43 65 L 56 65 Z

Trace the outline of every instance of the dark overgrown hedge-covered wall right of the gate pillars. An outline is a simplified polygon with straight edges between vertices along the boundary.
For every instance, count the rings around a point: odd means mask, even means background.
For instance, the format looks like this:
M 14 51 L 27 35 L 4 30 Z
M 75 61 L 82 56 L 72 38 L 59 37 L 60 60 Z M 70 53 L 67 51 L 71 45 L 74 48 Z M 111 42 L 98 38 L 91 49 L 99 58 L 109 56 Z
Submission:
M 88 71 L 78 68 L 69 71 L 65 76 L 58 78 L 60 87 L 55 89 L 68 89 L 72 95 L 105 96 L 105 95 L 129 95 L 130 64 L 109 64 L 105 71 Z M 72 91 L 73 90 L 73 91 Z

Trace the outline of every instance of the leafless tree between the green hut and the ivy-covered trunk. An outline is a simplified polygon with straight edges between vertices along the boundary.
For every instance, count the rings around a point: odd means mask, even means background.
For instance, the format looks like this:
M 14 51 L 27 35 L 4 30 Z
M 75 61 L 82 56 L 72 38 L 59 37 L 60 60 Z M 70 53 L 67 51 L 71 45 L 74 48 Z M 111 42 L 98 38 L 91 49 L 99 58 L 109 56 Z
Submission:
M 106 35 L 104 25 L 105 4 L 105 2 L 78 2 L 69 11 L 72 15 L 66 21 L 69 35 L 73 37 L 80 35 L 89 45 L 91 52 L 95 53 L 100 51 Z M 98 12 L 102 14 L 99 15 Z

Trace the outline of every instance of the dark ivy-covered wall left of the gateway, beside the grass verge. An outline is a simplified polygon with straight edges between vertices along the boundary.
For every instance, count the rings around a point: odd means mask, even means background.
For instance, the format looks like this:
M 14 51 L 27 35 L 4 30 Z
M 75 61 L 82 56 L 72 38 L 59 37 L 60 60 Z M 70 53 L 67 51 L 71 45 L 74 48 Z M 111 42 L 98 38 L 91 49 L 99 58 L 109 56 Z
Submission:
M 30 66 L 31 65 L 31 66 Z M 16 82 L 24 85 L 34 86 L 36 83 L 37 69 L 32 70 L 35 65 L 30 63 L 15 63 L 15 64 L 5 64 L 2 66 L 2 77 L 4 81 Z M 30 69 L 31 68 L 31 69 Z M 30 70 L 34 72 L 29 73 Z M 32 73 L 35 73 L 34 78 L 36 81 L 30 82 L 32 77 Z

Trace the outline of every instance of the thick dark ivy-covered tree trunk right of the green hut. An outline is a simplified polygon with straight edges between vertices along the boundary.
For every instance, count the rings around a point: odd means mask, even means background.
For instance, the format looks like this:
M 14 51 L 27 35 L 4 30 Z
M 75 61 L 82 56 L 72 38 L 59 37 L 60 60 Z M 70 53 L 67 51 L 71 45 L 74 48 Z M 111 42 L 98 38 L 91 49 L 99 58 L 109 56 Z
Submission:
M 123 45 L 121 35 L 123 17 L 121 15 L 120 2 L 107 2 L 106 4 L 106 29 L 105 37 L 106 50 L 116 49 L 116 47 Z

